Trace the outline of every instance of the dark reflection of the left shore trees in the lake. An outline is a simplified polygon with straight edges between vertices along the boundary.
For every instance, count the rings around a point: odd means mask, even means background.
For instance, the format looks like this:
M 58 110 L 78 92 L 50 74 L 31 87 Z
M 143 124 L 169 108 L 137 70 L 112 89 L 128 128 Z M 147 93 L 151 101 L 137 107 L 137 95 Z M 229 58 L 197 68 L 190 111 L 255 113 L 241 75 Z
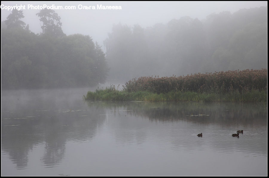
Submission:
M 72 112 L 67 112 L 69 108 L 66 112 L 64 110 L 56 111 L 55 108 L 59 106 L 51 106 L 52 109 L 48 111 L 38 112 L 36 108 L 29 110 L 20 106 L 22 105 L 19 105 L 18 108 L 23 109 L 17 110 L 19 112 L 15 114 L 7 112 L 2 115 L 2 118 L 10 119 L 2 119 L 1 127 L 2 151 L 9 155 L 8 157 L 17 165 L 17 168 L 26 168 L 28 156 L 33 147 L 44 142 L 45 152 L 41 161 L 46 166 L 58 164 L 65 156 L 66 141 L 92 140 L 97 128 L 100 128 L 104 122 L 104 117 L 100 117 L 103 110 L 97 109 L 96 106 L 86 106 L 86 109 L 72 110 Z M 85 106 L 83 105 L 83 107 Z M 80 117 L 83 115 L 87 116 Z

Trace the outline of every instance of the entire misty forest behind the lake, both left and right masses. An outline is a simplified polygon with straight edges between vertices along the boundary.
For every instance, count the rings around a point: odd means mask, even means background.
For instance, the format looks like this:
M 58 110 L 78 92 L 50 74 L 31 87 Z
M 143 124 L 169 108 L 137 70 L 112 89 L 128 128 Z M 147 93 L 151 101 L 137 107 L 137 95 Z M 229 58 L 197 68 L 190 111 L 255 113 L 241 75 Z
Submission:
M 2 89 L 86 87 L 111 79 L 125 83 L 245 69 L 266 69 L 267 75 L 267 7 L 204 20 L 186 16 L 147 28 L 114 24 L 104 40 L 106 51 L 90 34 L 65 35 L 54 10 L 36 16 L 40 34 L 23 22 L 22 11 L 13 10 L 1 23 Z

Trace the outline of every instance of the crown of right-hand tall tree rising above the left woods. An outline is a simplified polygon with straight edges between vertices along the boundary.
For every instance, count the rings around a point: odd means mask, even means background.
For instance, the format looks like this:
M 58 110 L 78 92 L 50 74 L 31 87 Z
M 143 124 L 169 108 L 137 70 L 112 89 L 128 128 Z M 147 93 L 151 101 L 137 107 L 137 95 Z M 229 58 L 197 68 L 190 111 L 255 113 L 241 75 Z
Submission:
M 62 23 L 60 22 L 60 17 L 54 10 L 43 9 L 36 14 L 40 17 L 40 21 L 43 22 L 42 34 L 48 34 L 52 36 L 63 36 Z

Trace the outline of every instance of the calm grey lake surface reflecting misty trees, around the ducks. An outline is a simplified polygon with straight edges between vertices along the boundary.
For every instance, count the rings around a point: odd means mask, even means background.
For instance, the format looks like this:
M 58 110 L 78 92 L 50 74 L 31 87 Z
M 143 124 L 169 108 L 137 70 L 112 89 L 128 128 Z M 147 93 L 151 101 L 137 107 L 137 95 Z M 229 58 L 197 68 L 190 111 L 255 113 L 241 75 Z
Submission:
M 83 101 L 88 90 L 2 91 L 1 175 L 267 176 L 267 104 Z

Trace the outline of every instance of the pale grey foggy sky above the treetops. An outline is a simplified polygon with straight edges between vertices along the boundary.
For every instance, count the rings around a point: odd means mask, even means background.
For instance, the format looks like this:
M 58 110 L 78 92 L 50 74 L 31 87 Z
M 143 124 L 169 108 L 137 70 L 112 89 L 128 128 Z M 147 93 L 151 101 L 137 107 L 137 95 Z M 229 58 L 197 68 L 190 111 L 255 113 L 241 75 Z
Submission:
M 42 32 L 41 22 L 36 16 L 40 10 L 27 9 L 28 4 L 33 6 L 46 4 L 48 6 L 76 6 L 76 10 L 55 10 L 61 17 L 62 30 L 66 35 L 89 35 L 94 42 L 103 46 L 103 41 L 111 32 L 113 24 L 127 24 L 141 27 L 151 27 L 156 23 L 166 24 L 172 19 L 183 16 L 205 19 L 212 13 L 230 11 L 234 13 L 240 9 L 267 6 L 267 1 L 1 1 L 5 6 L 26 5 L 23 10 L 25 18 L 22 19 L 34 33 Z M 95 6 L 121 6 L 121 10 L 79 10 L 78 5 Z M 1 10 L 1 21 L 7 19 L 11 10 Z

